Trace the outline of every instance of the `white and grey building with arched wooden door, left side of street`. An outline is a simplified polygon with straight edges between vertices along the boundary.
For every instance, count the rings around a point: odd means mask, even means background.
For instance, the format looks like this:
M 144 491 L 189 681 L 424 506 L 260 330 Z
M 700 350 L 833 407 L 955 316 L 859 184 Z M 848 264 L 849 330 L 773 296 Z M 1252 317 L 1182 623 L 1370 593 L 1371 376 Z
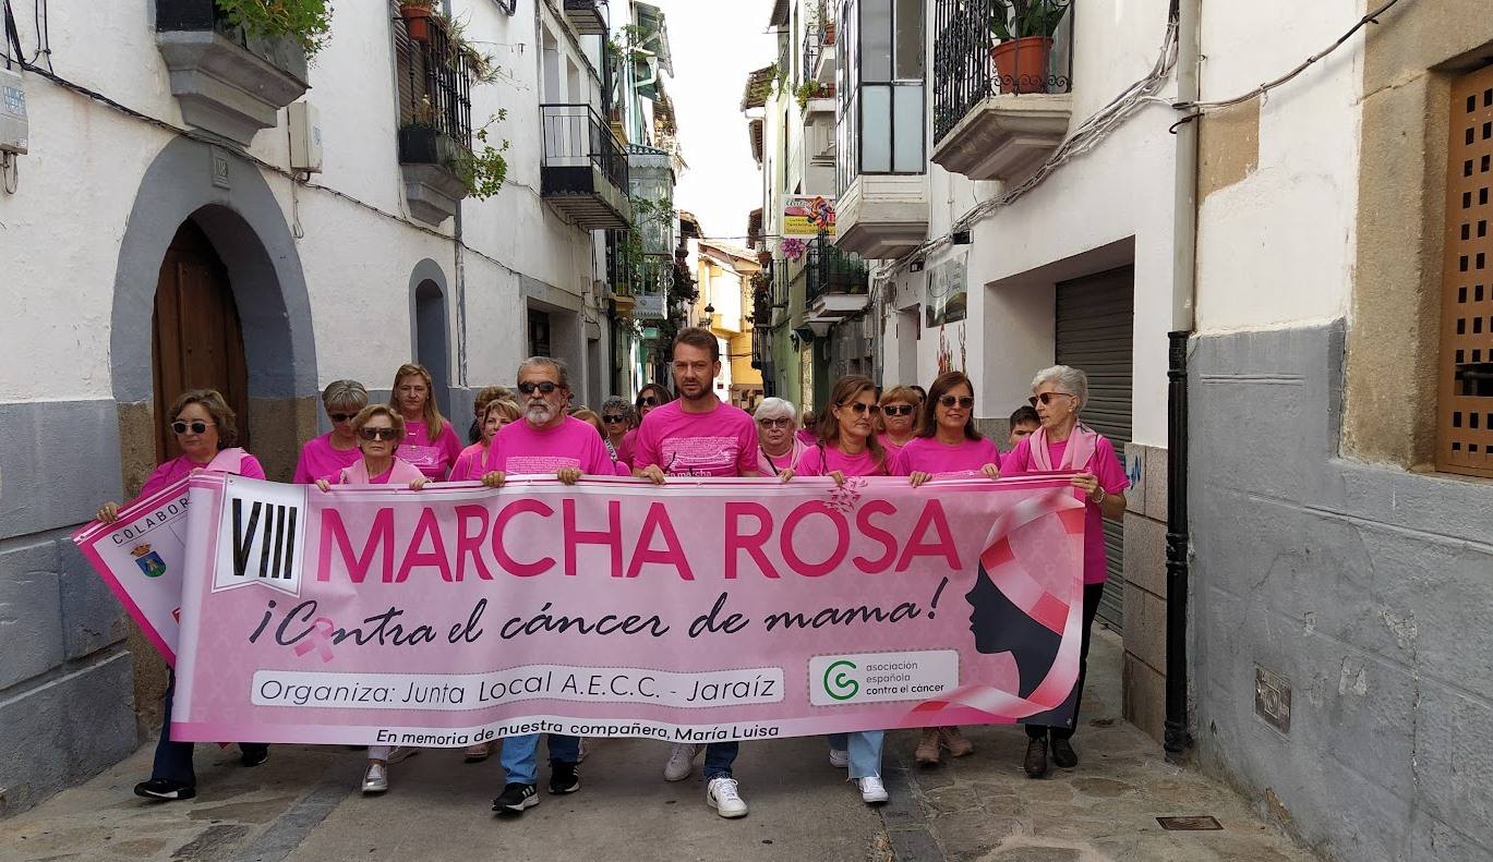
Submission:
M 322 386 L 382 401 L 403 362 L 461 428 L 530 355 L 564 359 L 576 404 L 632 397 L 657 352 L 618 251 L 639 152 L 664 166 L 652 224 L 679 233 L 652 6 L 305 3 L 291 34 L 213 0 L 13 6 L 0 816 L 154 735 L 166 668 L 67 534 L 178 453 L 176 395 L 219 389 L 278 480 L 327 430 Z

